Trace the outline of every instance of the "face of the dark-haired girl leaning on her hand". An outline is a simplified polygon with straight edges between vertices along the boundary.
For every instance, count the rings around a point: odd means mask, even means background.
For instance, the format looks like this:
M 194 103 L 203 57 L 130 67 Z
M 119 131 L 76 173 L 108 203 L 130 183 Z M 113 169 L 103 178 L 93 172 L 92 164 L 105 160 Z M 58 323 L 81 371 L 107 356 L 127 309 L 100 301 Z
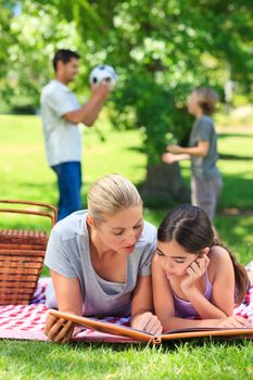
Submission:
M 189 253 L 175 240 L 157 242 L 156 254 L 166 277 L 182 277 L 187 268 L 200 256 L 200 253 Z

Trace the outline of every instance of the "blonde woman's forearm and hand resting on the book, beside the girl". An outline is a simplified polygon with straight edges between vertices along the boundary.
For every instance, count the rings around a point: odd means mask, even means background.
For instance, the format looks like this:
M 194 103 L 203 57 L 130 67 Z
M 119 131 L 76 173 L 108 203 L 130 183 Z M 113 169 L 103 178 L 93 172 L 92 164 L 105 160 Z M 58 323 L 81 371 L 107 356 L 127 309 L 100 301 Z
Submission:
M 162 325 L 152 314 L 151 276 L 139 276 L 131 301 L 131 327 L 153 334 L 162 332 Z

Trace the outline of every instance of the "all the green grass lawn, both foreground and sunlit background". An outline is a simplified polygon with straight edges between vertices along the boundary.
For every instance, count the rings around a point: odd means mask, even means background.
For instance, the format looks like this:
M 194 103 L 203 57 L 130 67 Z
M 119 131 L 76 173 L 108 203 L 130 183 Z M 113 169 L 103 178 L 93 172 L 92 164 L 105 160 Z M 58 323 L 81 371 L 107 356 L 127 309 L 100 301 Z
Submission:
M 220 237 L 245 264 L 253 258 L 252 215 L 227 216 L 223 210 L 253 211 L 253 128 L 219 136 L 219 167 L 224 191 L 216 226 Z M 99 138 L 99 132 L 105 142 Z M 107 173 L 121 173 L 139 183 L 144 179 L 146 156 L 138 151 L 138 131 L 115 132 L 102 117 L 84 132 L 84 199 L 89 186 Z M 36 116 L 0 116 L 0 198 L 56 203 L 53 173 L 47 167 L 40 119 Z M 189 183 L 189 163 L 182 175 Z M 156 226 L 166 210 L 146 208 Z M 1 215 L 0 227 L 38 228 L 40 218 Z M 45 228 L 49 229 L 47 221 Z M 43 275 L 48 271 L 45 270 Z M 253 346 L 245 340 L 206 339 L 163 347 L 0 341 L 0 379 L 250 379 Z

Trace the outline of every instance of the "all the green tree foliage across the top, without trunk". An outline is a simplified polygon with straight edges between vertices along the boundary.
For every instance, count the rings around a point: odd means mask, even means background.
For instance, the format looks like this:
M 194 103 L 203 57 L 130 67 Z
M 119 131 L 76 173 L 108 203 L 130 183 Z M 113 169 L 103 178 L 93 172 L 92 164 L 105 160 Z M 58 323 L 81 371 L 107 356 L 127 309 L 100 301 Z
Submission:
M 191 124 L 186 99 L 191 89 L 212 86 L 223 98 L 224 83 L 231 76 L 242 92 L 252 90 L 249 0 L 3 3 L 8 49 L 1 54 L 5 62 L 9 59 L 5 68 L 12 80 L 5 88 L 12 89 L 12 98 L 28 96 L 38 102 L 56 48 L 77 49 L 83 55 L 79 89 L 92 66 L 111 64 L 119 75 L 112 97 L 113 123 L 117 128 L 141 128 L 149 164 L 160 161 L 172 137 L 186 142 Z M 21 5 L 18 15 L 12 12 L 15 4 Z

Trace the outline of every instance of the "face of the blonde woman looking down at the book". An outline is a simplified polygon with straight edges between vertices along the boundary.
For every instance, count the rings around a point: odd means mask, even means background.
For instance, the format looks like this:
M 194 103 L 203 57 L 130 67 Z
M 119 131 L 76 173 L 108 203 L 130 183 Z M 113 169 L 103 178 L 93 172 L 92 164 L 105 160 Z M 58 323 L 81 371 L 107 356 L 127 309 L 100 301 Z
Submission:
M 104 249 L 132 253 L 143 229 L 142 206 L 122 210 L 115 215 L 105 216 L 105 219 L 90 226 Z

